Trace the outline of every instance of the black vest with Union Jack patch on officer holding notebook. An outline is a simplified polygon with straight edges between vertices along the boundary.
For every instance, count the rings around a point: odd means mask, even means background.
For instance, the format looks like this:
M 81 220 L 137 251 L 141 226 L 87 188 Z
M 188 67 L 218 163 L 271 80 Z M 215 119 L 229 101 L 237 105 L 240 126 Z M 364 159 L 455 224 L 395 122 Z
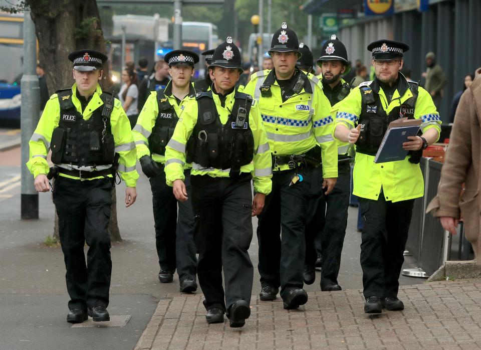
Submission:
M 356 152 L 376 155 L 391 121 L 406 117 L 414 119 L 418 85 L 409 82 L 409 86 L 412 96 L 400 106 L 393 108 L 389 114 L 383 109 L 379 94 L 375 93 L 370 86 L 359 88 L 361 92 L 361 115 L 359 116 L 361 131 L 356 141 Z

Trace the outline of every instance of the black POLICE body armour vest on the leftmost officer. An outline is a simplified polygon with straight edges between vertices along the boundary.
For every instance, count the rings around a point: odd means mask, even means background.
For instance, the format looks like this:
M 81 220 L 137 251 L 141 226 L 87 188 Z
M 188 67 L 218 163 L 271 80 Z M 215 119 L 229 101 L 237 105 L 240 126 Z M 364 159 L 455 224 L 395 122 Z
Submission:
M 52 162 L 77 166 L 114 163 L 115 142 L 110 128 L 113 96 L 103 93 L 104 108 L 97 108 L 88 120 L 72 102 L 72 89 L 57 91 L 60 104 L 59 126 L 52 133 Z

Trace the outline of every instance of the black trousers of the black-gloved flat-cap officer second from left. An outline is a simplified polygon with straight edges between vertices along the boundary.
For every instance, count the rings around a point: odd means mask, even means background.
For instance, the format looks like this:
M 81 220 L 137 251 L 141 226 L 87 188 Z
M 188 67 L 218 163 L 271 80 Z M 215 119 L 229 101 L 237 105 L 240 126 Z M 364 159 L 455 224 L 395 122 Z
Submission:
M 155 246 L 160 268 L 174 272 L 179 281 L 195 279 L 197 259 L 193 236 L 194 215 L 190 200 L 190 169 L 184 170 L 189 199 L 177 202 L 172 188 L 165 183 L 164 166 L 161 173 L 150 178 L 154 211 Z M 178 204 L 178 215 L 177 215 Z

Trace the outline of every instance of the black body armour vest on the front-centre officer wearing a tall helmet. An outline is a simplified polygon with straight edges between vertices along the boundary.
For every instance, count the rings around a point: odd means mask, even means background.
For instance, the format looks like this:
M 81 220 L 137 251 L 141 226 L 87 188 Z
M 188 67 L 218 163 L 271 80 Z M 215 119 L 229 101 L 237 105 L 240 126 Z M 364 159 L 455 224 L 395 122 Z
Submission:
M 205 168 L 230 168 L 240 171 L 254 157 L 254 136 L 249 125 L 251 95 L 236 91 L 234 105 L 226 124 L 222 124 L 212 98 L 212 91 L 197 93 L 197 123 L 187 142 L 187 162 Z

